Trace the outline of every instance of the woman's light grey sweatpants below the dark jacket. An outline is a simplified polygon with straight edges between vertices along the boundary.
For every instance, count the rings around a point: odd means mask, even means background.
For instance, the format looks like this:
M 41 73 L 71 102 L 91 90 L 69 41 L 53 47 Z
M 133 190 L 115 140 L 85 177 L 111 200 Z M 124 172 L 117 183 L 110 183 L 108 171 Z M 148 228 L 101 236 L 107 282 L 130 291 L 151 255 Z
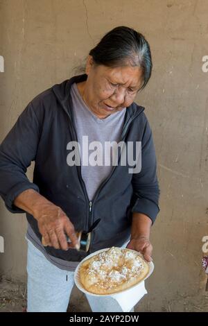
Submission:
M 63 271 L 44 257 L 31 241 L 28 241 L 28 312 L 67 311 L 71 290 L 74 285 L 73 272 Z M 125 243 L 122 248 L 127 246 Z M 68 276 L 68 277 L 67 277 Z M 122 312 L 112 297 L 86 295 L 92 311 Z M 134 311 L 132 309 L 132 311 Z

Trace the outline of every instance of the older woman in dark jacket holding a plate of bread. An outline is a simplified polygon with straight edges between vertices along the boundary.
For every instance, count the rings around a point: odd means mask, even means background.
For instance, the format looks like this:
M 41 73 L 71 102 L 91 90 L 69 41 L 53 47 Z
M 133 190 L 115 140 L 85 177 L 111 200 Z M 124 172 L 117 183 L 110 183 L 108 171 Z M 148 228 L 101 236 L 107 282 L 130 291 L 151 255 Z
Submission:
M 28 311 L 66 311 L 73 271 L 96 250 L 127 246 L 150 261 L 159 187 L 152 132 L 134 100 L 151 69 L 144 36 L 114 28 L 89 52 L 85 74 L 36 96 L 3 140 L 1 196 L 10 212 L 26 212 L 28 220 Z M 141 171 L 130 173 L 122 155 L 114 164 L 114 151 L 105 153 L 107 164 L 84 164 L 90 157 L 83 137 L 101 147 L 123 141 L 127 150 L 141 141 Z M 73 160 L 76 144 L 81 160 Z M 78 250 L 76 232 L 87 232 L 98 219 L 89 252 Z M 110 299 L 87 299 L 92 311 L 119 311 Z

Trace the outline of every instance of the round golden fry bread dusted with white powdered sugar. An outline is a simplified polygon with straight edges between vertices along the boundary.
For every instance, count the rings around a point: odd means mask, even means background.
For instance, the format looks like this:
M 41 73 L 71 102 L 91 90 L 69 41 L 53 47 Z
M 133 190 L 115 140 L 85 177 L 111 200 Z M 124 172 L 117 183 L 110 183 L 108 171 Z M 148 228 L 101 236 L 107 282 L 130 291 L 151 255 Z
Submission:
M 112 294 L 144 280 L 148 271 L 149 266 L 139 252 L 112 247 L 83 261 L 80 281 L 88 292 Z

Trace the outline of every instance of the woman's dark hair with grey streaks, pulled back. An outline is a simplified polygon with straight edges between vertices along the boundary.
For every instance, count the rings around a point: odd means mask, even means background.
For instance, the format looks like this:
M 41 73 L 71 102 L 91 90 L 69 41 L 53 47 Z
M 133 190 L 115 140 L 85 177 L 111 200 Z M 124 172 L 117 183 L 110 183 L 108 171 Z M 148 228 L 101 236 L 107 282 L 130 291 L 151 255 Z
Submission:
M 96 65 L 119 67 L 131 65 L 143 71 L 143 89 L 151 76 L 153 67 L 150 45 L 145 37 L 132 28 L 119 26 L 103 36 L 89 51 Z

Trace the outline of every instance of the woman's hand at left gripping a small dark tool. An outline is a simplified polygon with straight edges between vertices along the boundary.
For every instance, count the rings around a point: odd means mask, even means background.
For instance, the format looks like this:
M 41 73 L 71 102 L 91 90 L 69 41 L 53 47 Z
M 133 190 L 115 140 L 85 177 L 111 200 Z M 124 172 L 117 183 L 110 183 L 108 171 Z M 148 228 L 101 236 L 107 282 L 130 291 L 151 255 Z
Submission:
M 42 234 L 44 246 L 53 246 L 55 249 L 68 250 L 80 248 L 73 224 L 62 209 L 53 203 L 42 203 L 35 209 L 33 215 Z M 66 234 L 71 240 L 67 242 Z

